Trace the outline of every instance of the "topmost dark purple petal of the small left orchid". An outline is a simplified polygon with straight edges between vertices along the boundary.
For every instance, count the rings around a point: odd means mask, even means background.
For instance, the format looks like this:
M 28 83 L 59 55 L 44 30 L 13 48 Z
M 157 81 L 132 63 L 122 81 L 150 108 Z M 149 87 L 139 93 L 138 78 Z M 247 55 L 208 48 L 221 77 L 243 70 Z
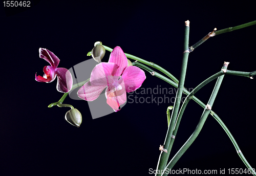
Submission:
M 52 67 L 58 67 L 59 58 L 53 52 L 45 48 L 39 48 L 39 57 L 48 61 Z

